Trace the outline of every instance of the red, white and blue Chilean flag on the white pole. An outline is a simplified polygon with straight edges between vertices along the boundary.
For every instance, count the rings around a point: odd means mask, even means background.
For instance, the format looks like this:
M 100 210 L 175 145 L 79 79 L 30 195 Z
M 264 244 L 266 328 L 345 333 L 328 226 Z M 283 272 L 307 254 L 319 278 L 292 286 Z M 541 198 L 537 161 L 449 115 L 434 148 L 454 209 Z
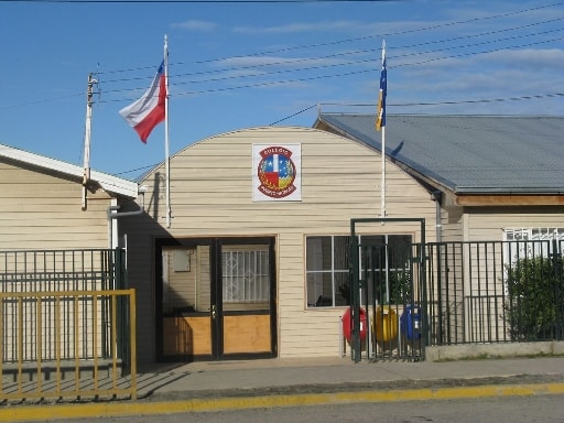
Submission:
M 159 66 L 151 87 L 135 102 L 124 107 L 119 113 L 135 130 L 141 141 L 147 143 L 149 134 L 165 118 L 166 79 L 164 61 Z

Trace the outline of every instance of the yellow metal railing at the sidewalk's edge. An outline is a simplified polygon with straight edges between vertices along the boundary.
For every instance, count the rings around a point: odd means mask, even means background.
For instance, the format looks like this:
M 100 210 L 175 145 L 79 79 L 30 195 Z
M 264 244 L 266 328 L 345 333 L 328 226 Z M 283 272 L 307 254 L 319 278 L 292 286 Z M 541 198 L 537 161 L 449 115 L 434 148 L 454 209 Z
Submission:
M 2 292 L 0 340 L 0 401 L 137 399 L 134 290 Z

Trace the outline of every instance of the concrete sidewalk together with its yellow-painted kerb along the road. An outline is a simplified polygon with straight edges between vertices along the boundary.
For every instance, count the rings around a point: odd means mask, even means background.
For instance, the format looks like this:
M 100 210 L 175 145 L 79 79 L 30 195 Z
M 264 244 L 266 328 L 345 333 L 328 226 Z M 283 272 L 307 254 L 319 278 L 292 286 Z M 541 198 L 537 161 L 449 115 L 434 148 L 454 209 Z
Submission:
M 141 370 L 135 401 L 11 406 L 0 409 L 0 422 L 564 393 L 564 357 L 358 364 L 348 357 L 304 358 Z

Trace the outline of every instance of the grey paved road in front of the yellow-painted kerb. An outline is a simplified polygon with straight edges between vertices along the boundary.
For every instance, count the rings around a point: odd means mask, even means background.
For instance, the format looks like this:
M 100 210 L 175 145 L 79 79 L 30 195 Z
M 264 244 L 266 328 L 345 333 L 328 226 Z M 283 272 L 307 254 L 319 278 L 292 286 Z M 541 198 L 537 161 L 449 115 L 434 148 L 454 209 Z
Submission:
M 169 415 L 58 420 L 57 423 L 557 423 L 563 421 L 564 395 L 533 395 L 263 408 Z

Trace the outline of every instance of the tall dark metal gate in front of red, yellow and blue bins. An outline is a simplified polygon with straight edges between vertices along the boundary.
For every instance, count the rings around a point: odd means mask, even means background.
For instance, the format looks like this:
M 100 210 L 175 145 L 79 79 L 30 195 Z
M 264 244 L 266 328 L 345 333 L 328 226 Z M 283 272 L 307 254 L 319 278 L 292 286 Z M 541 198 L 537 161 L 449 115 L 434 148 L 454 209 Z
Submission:
M 394 235 L 357 235 L 359 226 L 370 224 L 380 224 L 383 229 L 393 224 Z M 414 224 L 419 228 L 413 229 Z M 409 234 L 419 232 L 420 242 L 414 242 L 412 235 L 395 235 L 398 225 L 411 226 Z M 356 362 L 362 354 L 368 360 L 424 358 L 424 246 L 423 218 L 350 220 L 350 334 Z

